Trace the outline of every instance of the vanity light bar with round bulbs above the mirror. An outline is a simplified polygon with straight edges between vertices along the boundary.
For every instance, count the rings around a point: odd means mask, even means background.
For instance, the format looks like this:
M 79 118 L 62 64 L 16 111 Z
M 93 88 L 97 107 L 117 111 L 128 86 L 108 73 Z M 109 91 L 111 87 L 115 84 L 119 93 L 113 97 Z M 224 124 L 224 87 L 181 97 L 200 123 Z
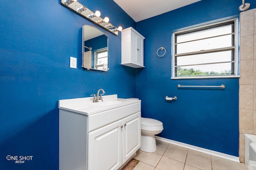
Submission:
M 80 4 L 77 2 L 77 0 L 60 0 L 60 4 L 65 6 L 66 8 L 72 10 L 73 12 L 76 12 L 80 16 L 83 16 L 84 18 L 92 21 L 93 23 L 96 23 L 103 27 L 104 29 L 110 31 L 114 35 L 118 35 L 118 31 L 122 30 L 122 27 L 115 27 L 109 22 L 109 18 L 100 18 L 100 11 L 92 12 L 86 6 Z M 78 8 L 79 7 L 79 8 Z M 95 19 L 92 19 L 95 18 Z

